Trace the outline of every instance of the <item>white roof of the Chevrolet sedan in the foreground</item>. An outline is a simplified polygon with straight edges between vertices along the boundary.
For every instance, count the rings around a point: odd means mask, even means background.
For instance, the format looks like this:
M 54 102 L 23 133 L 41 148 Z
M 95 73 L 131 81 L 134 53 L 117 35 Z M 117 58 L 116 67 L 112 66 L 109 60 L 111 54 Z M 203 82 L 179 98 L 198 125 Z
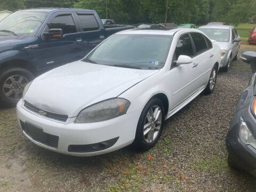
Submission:
M 199 32 L 202 33 L 202 31 L 199 31 L 197 29 L 187 29 L 187 28 L 158 28 L 158 29 L 130 29 L 130 30 L 123 30 L 119 31 L 116 34 L 134 34 L 134 35 L 174 35 L 178 31 L 184 30 L 184 33 L 189 33 L 189 32 Z

